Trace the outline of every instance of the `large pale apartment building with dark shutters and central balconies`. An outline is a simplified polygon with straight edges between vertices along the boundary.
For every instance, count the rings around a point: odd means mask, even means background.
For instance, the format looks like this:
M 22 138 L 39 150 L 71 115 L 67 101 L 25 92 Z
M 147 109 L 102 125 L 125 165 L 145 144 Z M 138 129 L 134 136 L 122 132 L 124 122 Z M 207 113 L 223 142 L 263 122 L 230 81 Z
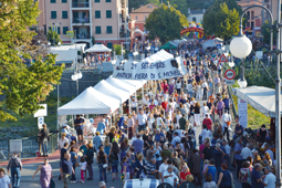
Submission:
M 76 41 L 91 46 L 95 40 L 112 48 L 129 43 L 127 0 L 39 0 L 39 24 L 43 22 L 46 32 L 56 30 L 64 44 Z M 67 38 L 67 31 L 76 38 Z

